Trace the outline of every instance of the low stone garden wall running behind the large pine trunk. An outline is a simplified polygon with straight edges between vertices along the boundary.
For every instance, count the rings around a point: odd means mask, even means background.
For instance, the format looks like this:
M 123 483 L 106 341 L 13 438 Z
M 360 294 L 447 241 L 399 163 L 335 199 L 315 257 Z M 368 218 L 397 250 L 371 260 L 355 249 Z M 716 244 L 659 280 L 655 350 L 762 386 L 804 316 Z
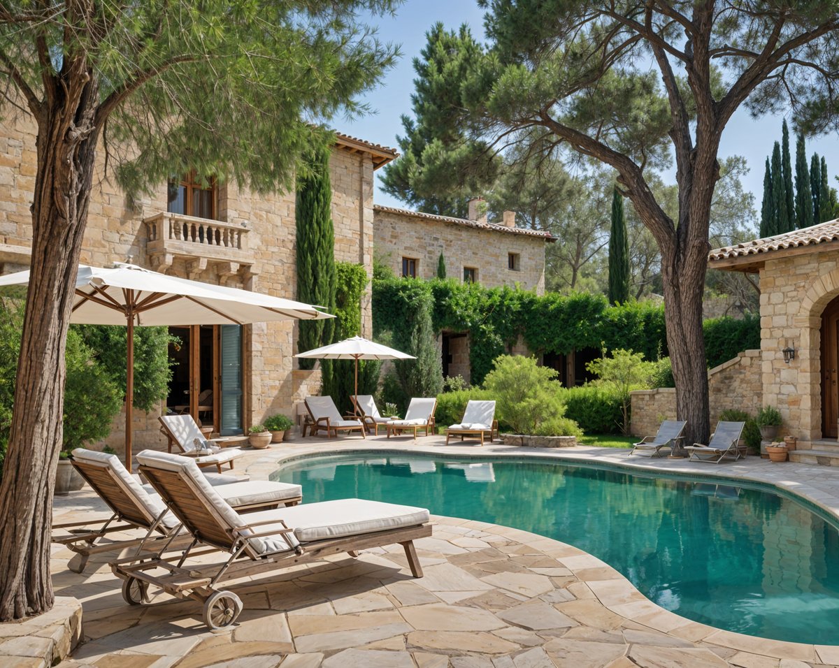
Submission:
M 754 416 L 763 406 L 761 351 L 746 350 L 708 371 L 711 429 L 720 413 L 737 408 Z M 663 420 L 676 419 L 676 391 L 672 387 L 632 393 L 633 436 L 653 436 Z

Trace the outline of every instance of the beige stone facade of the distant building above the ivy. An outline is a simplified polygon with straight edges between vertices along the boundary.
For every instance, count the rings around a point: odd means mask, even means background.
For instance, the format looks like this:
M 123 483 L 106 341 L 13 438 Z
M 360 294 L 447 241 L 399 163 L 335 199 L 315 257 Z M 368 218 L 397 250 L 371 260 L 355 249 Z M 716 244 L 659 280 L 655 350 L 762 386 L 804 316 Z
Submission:
M 447 277 L 463 280 L 464 269 L 472 269 L 484 287 L 519 286 L 542 294 L 545 243 L 552 238 L 514 227 L 509 216 L 507 220 L 507 225 L 493 225 L 377 205 L 373 207 L 373 239 L 377 255 L 397 276 L 402 276 L 406 258 L 414 260 L 416 277 L 436 277 L 442 253 Z

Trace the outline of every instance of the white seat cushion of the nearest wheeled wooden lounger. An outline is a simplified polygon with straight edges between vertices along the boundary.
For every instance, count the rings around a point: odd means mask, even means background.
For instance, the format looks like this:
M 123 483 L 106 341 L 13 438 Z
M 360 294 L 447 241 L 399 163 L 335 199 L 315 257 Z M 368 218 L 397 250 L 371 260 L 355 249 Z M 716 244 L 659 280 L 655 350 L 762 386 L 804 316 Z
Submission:
M 248 522 L 284 520 L 300 542 L 358 536 L 376 531 L 417 526 L 429 521 L 425 508 L 388 504 L 383 501 L 341 499 L 295 505 L 293 508 L 263 510 L 247 515 Z M 280 525 L 277 525 L 281 528 Z M 269 531 L 271 525 L 259 527 Z

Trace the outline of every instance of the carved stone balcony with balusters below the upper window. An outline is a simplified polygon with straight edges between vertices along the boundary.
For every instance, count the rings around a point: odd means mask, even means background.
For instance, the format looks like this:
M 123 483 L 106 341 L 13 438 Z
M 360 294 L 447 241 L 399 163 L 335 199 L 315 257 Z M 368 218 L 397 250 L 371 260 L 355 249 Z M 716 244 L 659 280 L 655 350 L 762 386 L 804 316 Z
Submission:
M 186 260 L 190 278 L 208 264 L 220 275 L 232 275 L 253 265 L 248 227 L 223 220 L 160 213 L 143 220 L 149 233 L 147 250 L 156 271 L 166 272 L 176 259 Z

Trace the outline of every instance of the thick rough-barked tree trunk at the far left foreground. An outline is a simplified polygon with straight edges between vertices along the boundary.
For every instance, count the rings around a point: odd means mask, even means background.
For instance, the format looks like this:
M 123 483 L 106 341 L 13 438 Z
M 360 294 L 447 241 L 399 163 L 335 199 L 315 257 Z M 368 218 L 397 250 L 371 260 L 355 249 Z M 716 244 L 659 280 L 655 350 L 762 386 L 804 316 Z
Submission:
M 69 74 L 70 83 L 56 86 L 36 115 L 31 277 L 0 484 L 0 622 L 44 613 L 54 601 L 50 533 L 63 432 L 65 339 L 98 137 L 95 78 L 86 71 Z

